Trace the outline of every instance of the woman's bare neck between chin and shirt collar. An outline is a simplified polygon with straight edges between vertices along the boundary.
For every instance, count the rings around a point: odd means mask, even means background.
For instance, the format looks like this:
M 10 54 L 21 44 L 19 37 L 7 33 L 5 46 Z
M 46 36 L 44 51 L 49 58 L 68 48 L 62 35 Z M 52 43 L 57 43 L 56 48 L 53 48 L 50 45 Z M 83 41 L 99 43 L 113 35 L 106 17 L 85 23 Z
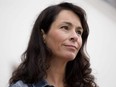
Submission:
M 55 87 L 64 87 L 66 62 L 57 59 L 50 63 L 50 68 L 47 71 L 47 82 Z

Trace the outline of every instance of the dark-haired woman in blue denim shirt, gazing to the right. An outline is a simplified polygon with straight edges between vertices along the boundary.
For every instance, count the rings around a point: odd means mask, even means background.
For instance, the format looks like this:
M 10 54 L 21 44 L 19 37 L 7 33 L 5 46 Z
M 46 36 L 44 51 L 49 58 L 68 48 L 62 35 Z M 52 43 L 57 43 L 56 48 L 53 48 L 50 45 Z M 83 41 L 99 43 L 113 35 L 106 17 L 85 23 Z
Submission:
M 10 87 L 97 87 L 85 51 L 85 11 L 72 4 L 47 7 L 37 18 Z

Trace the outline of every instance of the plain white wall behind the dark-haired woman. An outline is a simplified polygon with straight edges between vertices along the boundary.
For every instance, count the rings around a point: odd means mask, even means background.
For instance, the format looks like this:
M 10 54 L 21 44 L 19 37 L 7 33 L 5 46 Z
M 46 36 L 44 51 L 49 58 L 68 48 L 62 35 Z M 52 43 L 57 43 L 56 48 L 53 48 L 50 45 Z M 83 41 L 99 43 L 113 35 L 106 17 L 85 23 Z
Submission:
M 61 1 L 63 0 L 0 0 L 0 87 L 8 86 L 12 68 L 20 63 L 20 56 L 26 49 L 39 12 L 46 6 Z M 87 49 L 97 83 L 100 87 L 116 87 L 116 12 L 108 5 L 107 8 L 102 7 L 104 3 L 95 5 L 91 0 L 69 1 L 87 11 L 90 26 Z

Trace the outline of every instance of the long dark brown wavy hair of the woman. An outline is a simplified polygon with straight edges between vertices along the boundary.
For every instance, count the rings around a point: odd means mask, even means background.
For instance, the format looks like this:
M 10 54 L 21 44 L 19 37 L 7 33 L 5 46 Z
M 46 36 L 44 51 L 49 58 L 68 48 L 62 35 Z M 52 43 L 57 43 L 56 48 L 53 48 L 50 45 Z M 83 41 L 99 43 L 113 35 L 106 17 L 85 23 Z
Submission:
M 68 2 L 49 6 L 38 16 L 32 29 L 28 47 L 22 55 L 22 63 L 13 72 L 9 80 L 10 84 L 18 80 L 22 80 L 24 83 L 37 83 L 47 75 L 48 61 L 51 60 L 48 59 L 50 58 L 48 56 L 51 56 L 52 53 L 44 44 L 41 29 L 48 33 L 51 24 L 62 10 L 74 12 L 80 18 L 84 30 L 82 47 L 76 58 L 67 63 L 64 82 L 69 87 L 97 87 L 94 76 L 91 75 L 92 69 L 86 52 L 86 43 L 89 35 L 86 12 L 81 7 Z

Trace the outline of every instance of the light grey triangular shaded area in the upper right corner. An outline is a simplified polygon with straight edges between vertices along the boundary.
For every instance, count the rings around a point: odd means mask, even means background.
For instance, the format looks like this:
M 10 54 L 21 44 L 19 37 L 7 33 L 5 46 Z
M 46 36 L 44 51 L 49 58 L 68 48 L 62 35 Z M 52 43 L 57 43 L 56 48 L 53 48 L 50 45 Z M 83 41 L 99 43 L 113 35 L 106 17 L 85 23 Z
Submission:
M 116 0 L 88 0 L 87 2 L 116 23 Z

